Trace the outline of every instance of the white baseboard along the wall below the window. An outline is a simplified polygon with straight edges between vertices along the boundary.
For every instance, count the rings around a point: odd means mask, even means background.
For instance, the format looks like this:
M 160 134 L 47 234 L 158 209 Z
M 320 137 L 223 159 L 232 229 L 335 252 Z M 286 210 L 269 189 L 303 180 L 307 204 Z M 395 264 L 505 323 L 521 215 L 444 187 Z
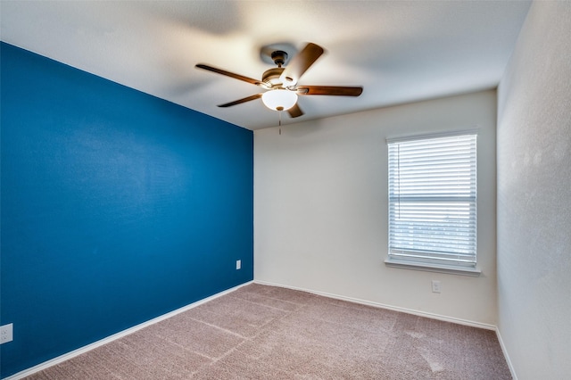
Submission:
M 302 291 L 302 292 L 307 292 L 307 293 L 313 293 L 313 294 L 317 294 L 317 295 L 322 295 L 322 296 L 328 297 L 328 298 L 334 298 L 335 300 L 342 300 L 342 301 L 347 301 L 347 302 L 360 303 L 360 304 L 362 304 L 362 305 L 373 306 L 373 307 L 376 307 L 376 308 L 381 308 L 381 309 L 386 309 L 386 310 L 400 311 L 400 312 L 403 312 L 403 313 L 412 314 L 412 315 L 416 315 L 416 316 L 419 316 L 419 317 L 426 317 L 426 318 L 432 318 L 432 319 L 442 320 L 442 321 L 444 321 L 444 322 L 456 323 L 456 324 L 458 324 L 458 325 L 484 328 L 484 329 L 486 329 L 486 330 L 494 330 L 494 331 L 496 330 L 496 326 L 489 325 L 489 324 L 487 324 L 487 323 L 476 322 L 476 321 L 472 321 L 472 320 L 468 320 L 468 319 L 446 317 L 446 316 L 442 316 L 442 315 L 440 315 L 440 314 L 429 313 L 429 312 L 426 312 L 426 311 L 411 310 L 411 309 L 401 308 L 401 307 L 398 307 L 398 306 L 386 305 L 385 303 L 370 302 L 370 301 L 360 300 L 360 299 L 358 299 L 358 298 L 346 297 L 346 296 L 343 296 L 343 295 L 332 294 L 332 293 L 319 292 L 319 291 L 314 291 L 314 290 L 310 290 L 310 289 L 304 289 L 304 288 L 300 288 L 300 287 L 296 287 L 296 286 L 289 286 L 289 285 L 281 285 L 281 284 L 270 283 L 270 282 L 268 282 L 268 281 L 260 281 L 260 280 L 255 280 L 255 279 L 254 279 L 253 282 L 254 282 L 255 284 L 260 284 L 260 285 L 271 285 L 271 286 L 285 287 L 285 288 L 287 288 L 287 289 L 300 290 L 300 291 Z

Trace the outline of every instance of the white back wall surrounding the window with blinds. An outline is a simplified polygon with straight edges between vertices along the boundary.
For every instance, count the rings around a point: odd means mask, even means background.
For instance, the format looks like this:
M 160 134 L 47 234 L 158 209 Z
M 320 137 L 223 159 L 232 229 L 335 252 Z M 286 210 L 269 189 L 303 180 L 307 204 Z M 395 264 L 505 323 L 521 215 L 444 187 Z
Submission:
M 495 326 L 495 127 L 491 90 L 255 131 L 254 279 Z M 385 138 L 471 128 L 482 275 L 385 267 Z

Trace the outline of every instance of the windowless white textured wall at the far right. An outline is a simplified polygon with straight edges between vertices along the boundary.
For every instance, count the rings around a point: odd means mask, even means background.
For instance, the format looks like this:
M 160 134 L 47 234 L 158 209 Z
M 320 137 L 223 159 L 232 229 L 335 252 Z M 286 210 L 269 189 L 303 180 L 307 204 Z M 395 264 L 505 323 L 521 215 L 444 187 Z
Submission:
M 499 87 L 499 331 L 519 380 L 571 376 L 571 3 L 536 2 Z

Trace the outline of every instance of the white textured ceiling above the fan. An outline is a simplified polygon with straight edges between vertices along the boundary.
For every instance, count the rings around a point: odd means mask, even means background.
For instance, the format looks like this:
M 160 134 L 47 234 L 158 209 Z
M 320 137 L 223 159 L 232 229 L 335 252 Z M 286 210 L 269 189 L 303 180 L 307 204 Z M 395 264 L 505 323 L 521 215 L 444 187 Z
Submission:
M 277 125 L 261 100 L 263 45 L 326 49 L 301 85 L 363 86 L 360 97 L 302 96 L 283 124 L 496 87 L 527 1 L 2 1 L 1 38 L 37 54 L 227 120 Z

